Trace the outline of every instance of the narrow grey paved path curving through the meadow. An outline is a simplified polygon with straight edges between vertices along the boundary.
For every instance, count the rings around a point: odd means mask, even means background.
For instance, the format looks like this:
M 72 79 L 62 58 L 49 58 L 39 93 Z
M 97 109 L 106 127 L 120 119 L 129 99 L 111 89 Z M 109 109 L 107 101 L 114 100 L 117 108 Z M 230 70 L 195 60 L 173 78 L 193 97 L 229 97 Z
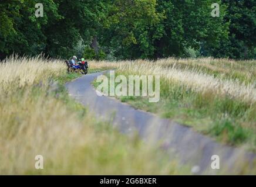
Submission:
M 130 134 L 135 131 L 146 142 L 161 140 L 162 147 L 168 150 L 170 157 L 173 152 L 178 159 L 186 164 L 200 167 L 200 174 L 215 174 L 211 168 L 212 155 L 220 157 L 220 169 L 228 173 L 242 171 L 241 165 L 254 160 L 255 154 L 245 153 L 241 148 L 223 146 L 207 136 L 203 136 L 190 127 L 182 126 L 169 119 L 161 119 L 151 113 L 136 110 L 126 103 L 114 98 L 97 96 L 91 82 L 103 72 L 88 74 L 66 84 L 69 95 L 92 110 L 96 117 L 112 121 L 122 133 Z M 197 167 L 197 168 L 198 168 Z M 230 173 L 231 174 L 231 173 Z

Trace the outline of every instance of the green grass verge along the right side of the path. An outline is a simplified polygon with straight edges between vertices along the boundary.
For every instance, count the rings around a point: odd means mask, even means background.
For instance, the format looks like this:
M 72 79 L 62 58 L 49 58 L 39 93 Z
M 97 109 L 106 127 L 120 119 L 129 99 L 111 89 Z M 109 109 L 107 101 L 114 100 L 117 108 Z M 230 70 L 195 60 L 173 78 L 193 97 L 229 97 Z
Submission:
M 128 77 L 129 72 L 117 71 L 115 75 L 121 74 Z M 93 84 L 95 87 L 99 85 L 96 81 Z M 116 98 L 136 109 L 191 126 L 223 143 L 256 150 L 255 103 L 244 103 L 228 96 L 216 96 L 211 92 L 198 93 L 164 78 L 160 79 L 160 101 L 157 103 L 150 103 L 147 97 L 142 96 Z

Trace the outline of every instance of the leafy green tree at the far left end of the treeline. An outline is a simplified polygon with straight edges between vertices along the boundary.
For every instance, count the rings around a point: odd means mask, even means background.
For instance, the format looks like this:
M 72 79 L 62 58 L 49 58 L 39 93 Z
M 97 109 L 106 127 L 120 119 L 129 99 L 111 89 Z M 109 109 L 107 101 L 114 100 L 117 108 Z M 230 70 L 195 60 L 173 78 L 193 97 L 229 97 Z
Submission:
M 1 2 L 0 19 L 4 23 L 0 27 L 1 58 L 12 53 L 36 55 L 42 52 L 46 40 L 42 27 L 50 19 L 59 19 L 59 15 L 53 1 L 41 2 L 46 13 L 38 19 L 35 17 L 35 0 Z

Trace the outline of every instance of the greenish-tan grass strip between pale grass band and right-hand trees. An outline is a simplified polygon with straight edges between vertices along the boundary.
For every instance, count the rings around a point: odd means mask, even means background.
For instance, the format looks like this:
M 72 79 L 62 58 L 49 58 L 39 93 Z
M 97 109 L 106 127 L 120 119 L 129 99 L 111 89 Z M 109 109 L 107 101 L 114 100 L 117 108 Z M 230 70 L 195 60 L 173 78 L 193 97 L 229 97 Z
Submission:
M 224 79 L 238 79 L 244 83 L 254 83 L 256 78 L 256 61 L 235 61 L 224 58 L 166 58 L 156 62 L 161 67 L 176 65 L 179 69 L 198 70 L 206 74 L 213 74 Z

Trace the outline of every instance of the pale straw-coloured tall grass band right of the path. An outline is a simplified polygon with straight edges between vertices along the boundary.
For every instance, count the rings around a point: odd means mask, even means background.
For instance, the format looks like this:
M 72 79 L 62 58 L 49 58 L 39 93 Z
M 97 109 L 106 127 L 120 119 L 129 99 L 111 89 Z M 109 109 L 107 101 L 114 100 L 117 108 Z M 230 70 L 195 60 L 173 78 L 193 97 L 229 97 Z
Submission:
M 201 61 L 207 62 L 207 58 L 201 59 Z M 180 61 L 174 61 L 173 58 L 159 60 L 156 63 L 136 60 L 126 64 L 120 64 L 118 70 L 122 72 L 129 71 L 130 74 L 138 75 L 160 75 L 161 78 L 185 85 L 196 92 L 211 92 L 220 96 L 240 99 L 247 103 L 255 103 L 256 101 L 256 88 L 254 84 L 244 84 L 244 82 L 240 82 L 238 79 L 216 78 L 214 75 L 206 74 L 197 68 L 193 70 L 184 68 L 181 70 L 176 67 L 176 64 L 169 67 L 174 62 L 180 63 Z M 188 62 L 190 60 L 187 60 Z M 181 63 L 184 63 L 184 60 Z

